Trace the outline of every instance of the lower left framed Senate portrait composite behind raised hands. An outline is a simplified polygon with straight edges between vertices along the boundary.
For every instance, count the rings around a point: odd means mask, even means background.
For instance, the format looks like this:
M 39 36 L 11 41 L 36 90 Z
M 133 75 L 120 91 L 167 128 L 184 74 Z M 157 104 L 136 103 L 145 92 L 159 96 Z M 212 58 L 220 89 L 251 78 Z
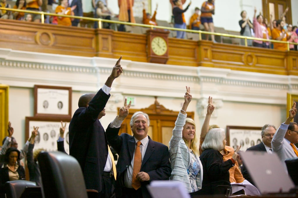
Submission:
M 66 153 L 69 153 L 68 127 L 70 119 L 61 120 L 58 118 L 26 117 L 25 120 L 26 140 L 30 138 L 33 126 L 39 127 L 38 135 L 35 137 L 34 150 L 43 148 L 47 151 L 57 151 L 57 140 L 60 136 L 61 121 L 63 121 L 63 126 L 66 122 L 64 131 L 64 149 Z

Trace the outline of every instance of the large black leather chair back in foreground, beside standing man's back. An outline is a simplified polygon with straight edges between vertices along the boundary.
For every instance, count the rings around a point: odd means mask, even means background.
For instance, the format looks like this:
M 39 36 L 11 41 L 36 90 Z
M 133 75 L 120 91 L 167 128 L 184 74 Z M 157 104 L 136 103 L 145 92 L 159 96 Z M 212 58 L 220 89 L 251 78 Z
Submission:
M 45 198 L 87 198 L 86 185 L 78 161 L 59 151 L 38 155 Z

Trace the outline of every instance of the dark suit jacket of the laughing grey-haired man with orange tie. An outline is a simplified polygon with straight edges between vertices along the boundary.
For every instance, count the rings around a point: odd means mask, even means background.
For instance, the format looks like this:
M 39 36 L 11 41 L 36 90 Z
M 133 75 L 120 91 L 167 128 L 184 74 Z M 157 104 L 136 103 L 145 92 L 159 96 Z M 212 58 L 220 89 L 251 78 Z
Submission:
M 124 188 L 125 171 L 131 164 L 136 142 L 134 137 L 122 133 L 118 136 L 118 132 L 107 132 L 107 138 L 111 146 L 119 155 L 117 161 L 117 180 L 116 180 L 116 196 L 122 196 L 122 188 Z M 149 137 L 149 136 L 148 136 Z M 140 172 L 146 172 L 152 180 L 169 180 L 171 175 L 170 154 L 166 145 L 155 142 L 149 137 L 148 147 L 145 152 Z M 150 197 L 146 188 L 149 182 L 141 182 L 143 197 Z

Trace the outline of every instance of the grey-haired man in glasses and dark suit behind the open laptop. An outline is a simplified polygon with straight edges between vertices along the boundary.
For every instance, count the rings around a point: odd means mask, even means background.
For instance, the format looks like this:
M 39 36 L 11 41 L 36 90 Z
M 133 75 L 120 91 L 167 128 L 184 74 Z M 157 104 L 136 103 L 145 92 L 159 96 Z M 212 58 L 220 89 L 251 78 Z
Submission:
M 271 141 L 275 131 L 276 131 L 276 128 L 274 125 L 271 125 L 271 124 L 264 125 L 262 127 L 262 132 L 261 132 L 262 142 L 260 144 L 249 147 L 247 150 L 264 151 L 267 153 L 272 153 Z M 250 177 L 244 163 L 242 165 L 241 172 L 243 177 L 254 185 L 254 182 L 252 181 L 252 178 Z

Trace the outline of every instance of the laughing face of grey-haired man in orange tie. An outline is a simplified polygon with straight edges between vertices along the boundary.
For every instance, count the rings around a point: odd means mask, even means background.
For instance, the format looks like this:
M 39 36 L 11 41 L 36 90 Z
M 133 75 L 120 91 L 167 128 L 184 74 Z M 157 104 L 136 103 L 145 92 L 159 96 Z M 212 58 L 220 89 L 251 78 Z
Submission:
M 148 129 L 147 118 L 143 114 L 136 115 L 133 120 L 133 125 L 131 126 L 131 131 L 134 134 L 134 137 L 138 140 L 144 139 L 147 137 Z

